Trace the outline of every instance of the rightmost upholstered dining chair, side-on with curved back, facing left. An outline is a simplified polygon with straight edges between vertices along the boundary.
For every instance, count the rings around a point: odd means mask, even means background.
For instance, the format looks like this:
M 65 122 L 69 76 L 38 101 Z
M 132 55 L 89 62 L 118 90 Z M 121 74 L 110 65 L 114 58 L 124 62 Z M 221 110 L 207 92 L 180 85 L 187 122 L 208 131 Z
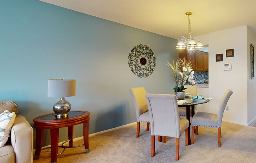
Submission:
M 223 113 L 225 110 L 225 107 L 227 105 L 227 102 L 229 101 L 230 96 L 232 95 L 232 90 L 228 89 L 219 104 L 219 110 L 218 114 L 212 114 L 208 112 L 197 112 L 191 121 L 191 126 L 192 126 L 192 133 L 191 133 L 191 143 L 194 144 L 194 130 L 196 127 L 196 135 L 198 134 L 198 126 L 201 127 L 214 127 L 218 128 L 218 145 L 221 147 L 221 121 L 223 117 Z

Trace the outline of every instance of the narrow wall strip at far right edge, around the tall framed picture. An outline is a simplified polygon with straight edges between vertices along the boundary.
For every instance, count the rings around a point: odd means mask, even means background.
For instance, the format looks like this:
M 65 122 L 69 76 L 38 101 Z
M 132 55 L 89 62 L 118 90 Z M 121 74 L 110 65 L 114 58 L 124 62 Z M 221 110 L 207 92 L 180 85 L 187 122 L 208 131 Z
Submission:
M 248 107 L 247 107 L 247 123 L 252 122 L 256 118 L 256 78 L 251 79 L 251 44 L 256 46 L 256 33 L 252 31 L 250 27 L 247 26 L 247 85 L 248 85 Z M 255 53 L 255 50 L 254 50 Z M 255 56 L 254 56 L 255 57 Z M 256 62 L 254 61 L 254 64 Z M 254 69 L 254 73 L 256 73 Z

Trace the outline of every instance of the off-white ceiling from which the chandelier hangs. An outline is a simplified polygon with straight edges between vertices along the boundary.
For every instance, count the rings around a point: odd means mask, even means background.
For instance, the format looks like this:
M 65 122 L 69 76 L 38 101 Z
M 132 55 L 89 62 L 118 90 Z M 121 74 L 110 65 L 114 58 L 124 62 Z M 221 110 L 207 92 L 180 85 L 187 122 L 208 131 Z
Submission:
M 256 0 L 41 0 L 172 38 L 249 25 L 256 31 Z

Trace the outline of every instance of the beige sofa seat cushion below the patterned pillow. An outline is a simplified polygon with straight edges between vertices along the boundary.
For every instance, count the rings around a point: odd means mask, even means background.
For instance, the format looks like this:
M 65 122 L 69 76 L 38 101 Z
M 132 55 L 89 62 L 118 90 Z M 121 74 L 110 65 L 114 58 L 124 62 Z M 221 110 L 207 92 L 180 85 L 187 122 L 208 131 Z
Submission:
M 2 163 L 14 163 L 15 154 L 13 146 L 5 144 L 4 147 L 0 148 L 0 162 Z

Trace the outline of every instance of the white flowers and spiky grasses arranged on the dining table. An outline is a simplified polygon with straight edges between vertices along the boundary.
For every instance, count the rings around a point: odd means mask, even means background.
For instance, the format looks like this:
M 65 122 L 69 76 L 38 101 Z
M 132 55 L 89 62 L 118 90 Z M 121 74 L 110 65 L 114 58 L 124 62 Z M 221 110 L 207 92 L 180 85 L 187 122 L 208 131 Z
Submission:
M 174 76 L 174 81 L 176 83 L 176 87 L 174 87 L 174 92 L 184 92 L 186 88 L 184 85 L 186 82 L 191 83 L 192 85 L 196 84 L 194 79 L 194 71 L 192 62 L 187 61 L 185 58 L 178 59 L 176 62 L 174 60 L 172 63 L 167 62 L 166 64 Z

